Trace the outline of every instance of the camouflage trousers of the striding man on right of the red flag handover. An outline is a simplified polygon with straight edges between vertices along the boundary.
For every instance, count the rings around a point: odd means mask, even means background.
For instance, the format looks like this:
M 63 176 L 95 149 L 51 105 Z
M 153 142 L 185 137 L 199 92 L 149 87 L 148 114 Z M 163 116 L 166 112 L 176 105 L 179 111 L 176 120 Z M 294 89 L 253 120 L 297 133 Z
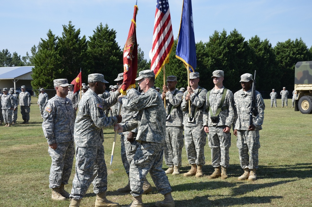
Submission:
M 163 166 L 163 144 L 140 141 L 130 163 L 130 188 L 132 196 L 143 194 L 143 182 L 149 173 L 160 194 L 172 191 Z

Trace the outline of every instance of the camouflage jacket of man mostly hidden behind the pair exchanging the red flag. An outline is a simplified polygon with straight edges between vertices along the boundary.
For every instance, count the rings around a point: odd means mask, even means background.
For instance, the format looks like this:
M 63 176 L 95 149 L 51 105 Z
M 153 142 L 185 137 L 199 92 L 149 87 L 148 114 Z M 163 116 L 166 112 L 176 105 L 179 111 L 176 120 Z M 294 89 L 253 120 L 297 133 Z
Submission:
M 133 99 L 137 96 L 141 95 L 139 91 L 135 90 L 134 88 L 128 89 L 127 90 L 127 95 L 124 96 L 125 98 L 128 99 Z M 122 116 L 122 122 L 120 123 L 121 125 L 127 124 L 129 126 L 134 126 L 134 129 L 131 129 L 131 132 L 137 133 L 137 125 L 138 125 L 138 118 L 139 118 L 139 112 L 138 111 L 130 111 L 126 108 L 123 107 L 124 105 L 121 105 L 121 111 L 120 114 Z M 131 127 L 132 128 L 132 127 Z M 119 134 L 129 134 L 129 131 L 124 131 Z

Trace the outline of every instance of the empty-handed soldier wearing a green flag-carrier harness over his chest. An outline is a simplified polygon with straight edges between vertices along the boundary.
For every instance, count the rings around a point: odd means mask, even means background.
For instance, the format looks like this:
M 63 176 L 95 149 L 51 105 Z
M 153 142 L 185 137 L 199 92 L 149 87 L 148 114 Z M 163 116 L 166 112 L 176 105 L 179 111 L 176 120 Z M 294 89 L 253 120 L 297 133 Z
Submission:
M 234 105 L 232 91 L 224 88 L 224 72 L 212 72 L 215 87 L 207 93 L 204 114 L 204 130 L 208 133 L 208 144 L 211 149 L 211 163 L 214 172 L 208 179 L 221 177 L 227 179 L 229 167 L 229 149 L 231 147 L 231 127 L 234 121 Z M 221 103 L 222 102 L 222 103 Z

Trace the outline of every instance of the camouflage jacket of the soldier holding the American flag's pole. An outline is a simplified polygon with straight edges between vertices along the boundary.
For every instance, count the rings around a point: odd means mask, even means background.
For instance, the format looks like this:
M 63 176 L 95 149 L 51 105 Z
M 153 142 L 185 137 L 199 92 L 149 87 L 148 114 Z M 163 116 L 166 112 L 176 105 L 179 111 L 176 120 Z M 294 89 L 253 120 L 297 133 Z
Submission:
M 176 92 L 177 91 L 177 92 Z M 173 95 L 176 93 L 175 95 Z M 166 114 L 170 113 L 169 108 L 172 105 L 172 111 L 170 117 L 166 120 L 166 126 L 168 127 L 181 127 L 183 126 L 183 111 L 181 109 L 181 103 L 183 99 L 182 91 L 177 88 L 172 92 L 167 91 L 166 93 Z

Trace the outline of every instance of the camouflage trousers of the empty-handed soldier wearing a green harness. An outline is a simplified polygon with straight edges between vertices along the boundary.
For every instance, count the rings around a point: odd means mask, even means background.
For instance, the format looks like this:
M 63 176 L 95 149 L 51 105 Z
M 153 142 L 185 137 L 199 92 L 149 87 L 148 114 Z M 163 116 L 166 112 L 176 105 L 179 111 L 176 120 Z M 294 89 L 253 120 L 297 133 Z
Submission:
M 231 147 L 231 133 L 223 132 L 224 126 L 209 127 L 208 144 L 211 149 L 212 167 L 229 167 L 229 149 Z

